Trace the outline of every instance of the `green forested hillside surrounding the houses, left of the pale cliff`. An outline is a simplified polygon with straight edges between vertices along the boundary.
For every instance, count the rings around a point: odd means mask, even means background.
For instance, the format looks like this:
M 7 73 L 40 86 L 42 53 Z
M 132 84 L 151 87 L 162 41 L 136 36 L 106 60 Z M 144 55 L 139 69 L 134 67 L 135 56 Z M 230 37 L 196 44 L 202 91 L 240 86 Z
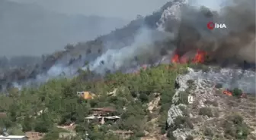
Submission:
M 84 71 L 74 79 L 53 79 L 39 89 L 22 89 L 11 91 L 10 95 L 1 95 L 0 107 L 8 117 L 2 120 L 10 134 L 22 134 L 34 130 L 46 133 L 44 139 L 56 139 L 59 129 L 66 123 L 75 123 L 75 131 L 81 135 L 88 131 L 91 139 L 120 139 L 110 135 L 109 130 L 131 130 L 136 139 L 144 135 L 144 129 L 151 129 L 150 120 L 157 118 L 157 127 L 165 130 L 167 112 L 174 95 L 174 81 L 179 73 L 185 73 L 184 66 L 175 67 L 161 65 L 138 73 L 115 73 L 104 79 L 87 81 L 93 73 Z M 116 95 L 107 95 L 117 89 Z M 90 91 L 94 99 L 78 98 L 76 92 Z M 160 108 L 149 112 L 148 104 L 160 97 Z M 157 105 L 157 106 L 158 106 Z M 98 123 L 87 123 L 91 107 L 114 107 L 120 120 L 117 123 L 106 123 L 99 127 Z M 37 116 L 40 110 L 43 114 Z

